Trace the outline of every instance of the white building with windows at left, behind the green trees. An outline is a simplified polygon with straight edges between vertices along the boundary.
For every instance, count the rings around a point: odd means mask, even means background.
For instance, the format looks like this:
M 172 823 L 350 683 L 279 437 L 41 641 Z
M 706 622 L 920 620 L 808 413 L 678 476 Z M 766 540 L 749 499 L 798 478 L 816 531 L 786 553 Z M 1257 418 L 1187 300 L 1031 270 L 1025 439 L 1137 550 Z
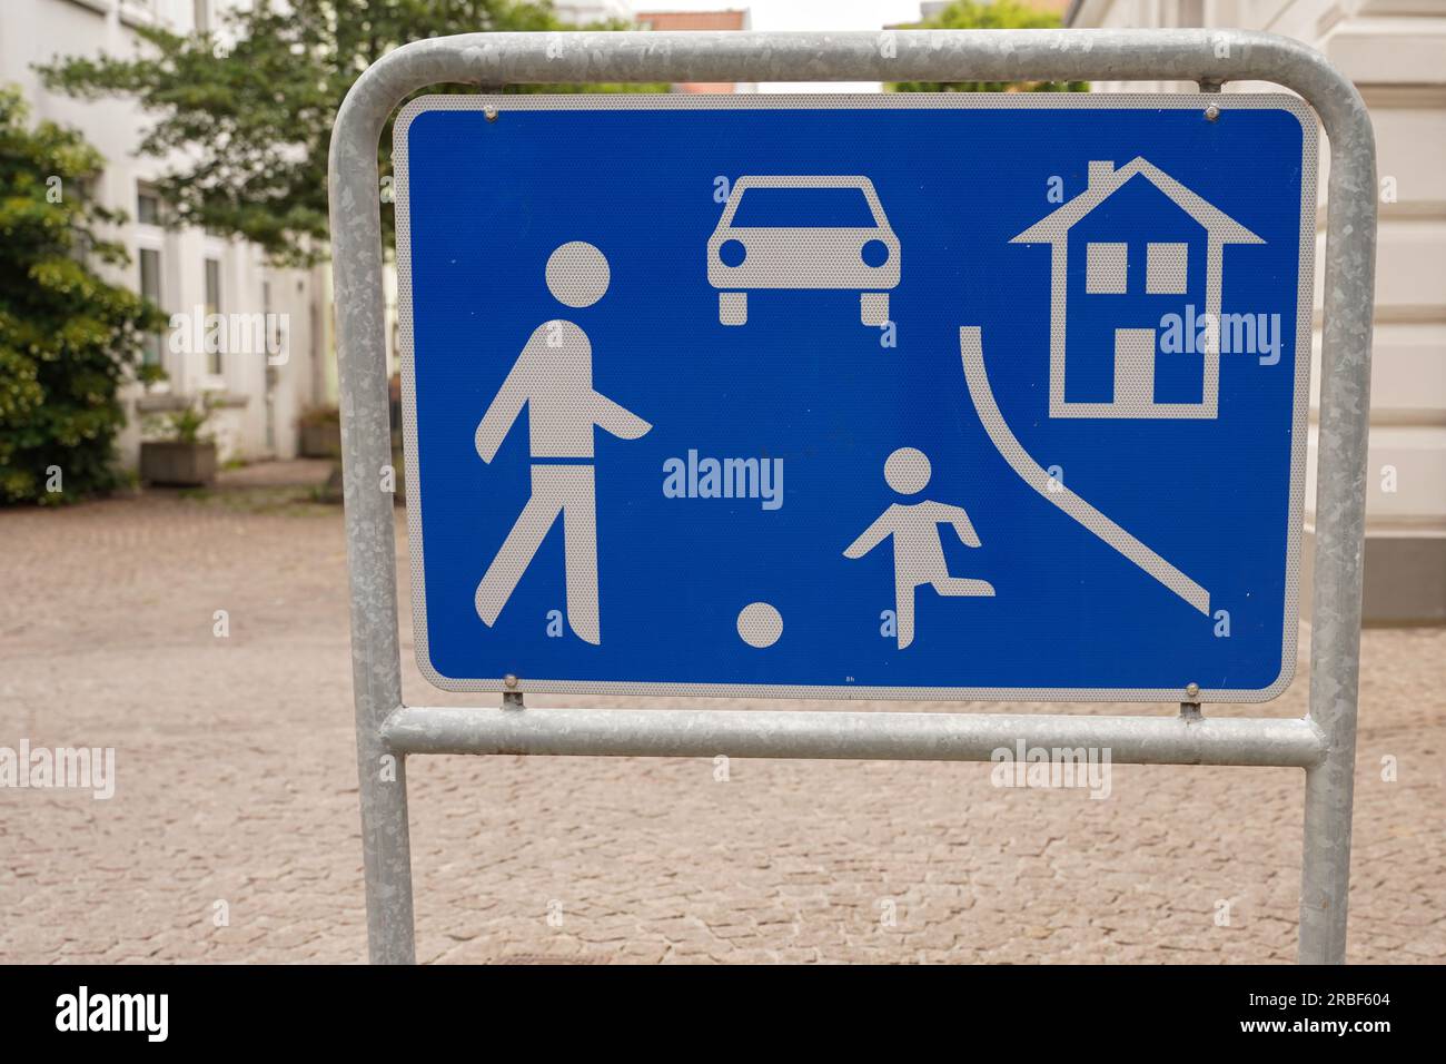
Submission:
M 211 10 L 246 0 L 213 0 Z M 33 120 L 52 120 L 78 129 L 106 158 L 93 194 L 107 207 L 124 210 L 130 221 L 111 233 L 130 252 L 124 269 L 104 268 L 114 282 L 140 287 L 140 249 L 161 252 L 161 305 L 168 314 L 191 314 L 205 304 L 205 259 L 215 258 L 220 269 L 223 314 L 262 314 L 269 308 L 283 316 L 286 362 L 268 375 L 265 352 L 231 352 L 223 356 L 220 373 L 210 372 L 204 350 L 171 350 L 163 343 L 162 366 L 169 382 L 143 395 L 139 388 L 123 394 L 129 424 L 120 437 L 120 455 L 136 463 L 142 420 L 150 408 L 163 407 L 162 397 L 213 394 L 223 401 L 213 423 L 223 459 L 292 457 L 296 453 L 296 415 L 304 407 L 334 395 L 327 375 L 318 372 L 330 346 L 318 329 L 317 300 L 325 297 L 324 269 L 273 269 L 259 248 L 226 240 L 201 230 L 168 230 L 137 220 L 136 197 L 143 182 L 165 172 L 158 159 L 137 158 L 134 151 L 152 123 L 129 100 L 77 100 L 43 87 L 33 67 L 56 55 L 133 54 L 139 39 L 134 26 L 159 22 L 176 32 L 195 25 L 194 0 L 4 0 L 0 4 L 0 83 L 19 85 Z M 214 16 L 213 16 L 214 17 Z M 224 59 L 217 59 L 224 62 Z

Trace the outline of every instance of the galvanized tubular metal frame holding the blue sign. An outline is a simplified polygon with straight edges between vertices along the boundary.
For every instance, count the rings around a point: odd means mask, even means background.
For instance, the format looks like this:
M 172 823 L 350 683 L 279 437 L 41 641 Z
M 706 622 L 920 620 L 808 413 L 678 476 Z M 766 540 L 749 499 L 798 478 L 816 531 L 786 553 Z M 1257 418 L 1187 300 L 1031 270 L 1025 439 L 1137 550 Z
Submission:
M 727 709 L 408 706 L 402 701 L 377 146 L 393 111 L 441 83 L 603 81 L 1272 81 L 1330 140 L 1316 485 L 1310 705 L 1303 718 L 865 714 Z M 989 760 L 998 747 L 1109 747 L 1135 764 L 1306 770 L 1301 963 L 1342 963 L 1351 876 L 1361 654 L 1375 135 L 1351 81 L 1319 52 L 1238 30 L 884 30 L 878 33 L 471 33 L 418 41 L 367 68 L 330 151 L 341 443 L 351 580 L 351 670 L 375 963 L 415 960 L 409 754 L 593 754 Z

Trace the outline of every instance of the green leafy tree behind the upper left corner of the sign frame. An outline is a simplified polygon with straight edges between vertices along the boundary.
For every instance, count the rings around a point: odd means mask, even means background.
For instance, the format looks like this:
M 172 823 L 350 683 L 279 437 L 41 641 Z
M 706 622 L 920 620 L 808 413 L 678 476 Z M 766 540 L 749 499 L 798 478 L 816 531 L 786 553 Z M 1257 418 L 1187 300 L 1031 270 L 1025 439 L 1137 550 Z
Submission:
M 599 25 L 590 29 L 616 29 Z M 421 38 L 484 30 L 576 29 L 549 0 L 292 0 L 231 10 L 220 33 L 137 28 L 133 58 L 67 56 L 42 65 L 55 90 L 134 98 L 155 124 L 140 153 L 184 159 L 158 182 L 168 223 L 204 226 L 266 249 L 273 263 L 325 255 L 327 151 L 351 83 L 386 52 Z M 525 85 L 506 91 L 664 91 L 667 85 Z M 434 85 L 428 93 L 476 93 Z M 379 149 L 390 174 L 392 127 Z M 385 200 L 386 197 L 383 197 Z M 392 246 L 392 206 L 382 227 Z

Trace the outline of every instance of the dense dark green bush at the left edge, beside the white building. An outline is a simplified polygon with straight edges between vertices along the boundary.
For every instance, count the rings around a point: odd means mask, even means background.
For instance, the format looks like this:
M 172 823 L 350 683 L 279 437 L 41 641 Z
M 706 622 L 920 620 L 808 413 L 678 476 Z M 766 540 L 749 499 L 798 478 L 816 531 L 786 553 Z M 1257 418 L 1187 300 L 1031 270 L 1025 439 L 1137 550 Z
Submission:
M 72 501 L 116 486 L 120 385 L 159 310 L 90 263 L 127 262 L 91 204 L 101 158 L 80 133 L 33 130 L 20 94 L 0 88 L 0 504 Z

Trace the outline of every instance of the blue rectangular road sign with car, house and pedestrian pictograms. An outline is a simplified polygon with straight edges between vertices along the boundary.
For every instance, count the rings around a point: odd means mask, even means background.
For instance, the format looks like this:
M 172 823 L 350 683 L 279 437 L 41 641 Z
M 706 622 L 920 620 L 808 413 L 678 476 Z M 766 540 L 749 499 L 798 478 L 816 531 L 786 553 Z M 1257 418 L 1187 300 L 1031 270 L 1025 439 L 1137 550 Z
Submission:
M 1285 96 L 414 101 L 422 672 L 1272 698 L 1314 138 Z

